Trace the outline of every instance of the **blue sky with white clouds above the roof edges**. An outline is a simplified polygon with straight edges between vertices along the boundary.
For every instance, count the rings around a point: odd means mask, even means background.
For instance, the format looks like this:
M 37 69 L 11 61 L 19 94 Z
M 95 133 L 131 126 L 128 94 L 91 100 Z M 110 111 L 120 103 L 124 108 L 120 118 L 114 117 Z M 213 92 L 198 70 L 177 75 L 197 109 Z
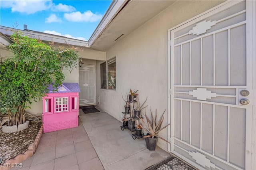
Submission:
M 112 0 L 0 0 L 0 24 L 88 40 Z

